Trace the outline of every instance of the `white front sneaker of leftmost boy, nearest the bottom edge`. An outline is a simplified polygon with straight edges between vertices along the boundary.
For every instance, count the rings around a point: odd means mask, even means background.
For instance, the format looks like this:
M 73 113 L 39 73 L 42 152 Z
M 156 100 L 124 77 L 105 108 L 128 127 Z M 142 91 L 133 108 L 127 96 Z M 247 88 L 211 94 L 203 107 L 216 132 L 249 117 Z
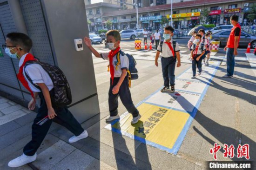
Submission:
M 11 160 L 8 163 L 8 166 L 15 168 L 15 167 L 25 165 L 27 163 L 31 163 L 35 160 L 36 160 L 36 153 L 33 156 L 27 156 L 23 153 L 23 155 L 21 155 L 20 157 L 17 157 L 15 159 Z

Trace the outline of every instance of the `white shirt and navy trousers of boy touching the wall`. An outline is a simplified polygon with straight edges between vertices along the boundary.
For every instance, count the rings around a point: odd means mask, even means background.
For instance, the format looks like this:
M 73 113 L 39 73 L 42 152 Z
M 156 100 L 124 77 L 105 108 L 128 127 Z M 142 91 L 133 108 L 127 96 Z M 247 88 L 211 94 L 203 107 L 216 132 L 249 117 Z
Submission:
M 109 60 L 108 54 L 109 52 L 101 53 L 101 58 Z M 118 60 L 117 60 L 117 54 L 116 54 L 113 57 L 113 62 L 111 64 L 114 66 L 115 73 L 114 73 L 113 85 L 112 85 L 112 79 L 110 78 L 110 87 L 108 91 L 108 107 L 109 107 L 110 116 L 118 115 L 118 109 L 117 109 L 118 97 L 120 96 L 122 104 L 125 106 L 127 111 L 133 115 L 133 118 L 135 118 L 139 115 L 139 111 L 136 109 L 132 101 L 131 92 L 129 90 L 128 73 L 119 88 L 119 92 L 117 94 L 112 93 L 112 89 L 115 87 L 115 85 L 117 85 L 121 77 L 122 70 L 123 69 L 128 70 L 129 59 L 126 55 L 120 54 L 120 65 L 117 65 Z M 116 65 L 117 65 L 117 69 L 116 69 Z

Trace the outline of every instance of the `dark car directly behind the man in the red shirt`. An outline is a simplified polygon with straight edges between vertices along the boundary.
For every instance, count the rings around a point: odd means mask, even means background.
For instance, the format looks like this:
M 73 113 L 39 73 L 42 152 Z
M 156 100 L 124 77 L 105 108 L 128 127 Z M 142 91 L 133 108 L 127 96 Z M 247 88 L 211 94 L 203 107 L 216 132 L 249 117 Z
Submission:
M 220 41 L 220 46 L 226 46 L 231 30 L 226 29 L 217 33 L 212 34 L 213 41 Z M 256 48 L 256 36 L 253 36 L 247 32 L 242 31 L 239 41 L 239 46 L 248 46 L 251 43 L 251 48 Z

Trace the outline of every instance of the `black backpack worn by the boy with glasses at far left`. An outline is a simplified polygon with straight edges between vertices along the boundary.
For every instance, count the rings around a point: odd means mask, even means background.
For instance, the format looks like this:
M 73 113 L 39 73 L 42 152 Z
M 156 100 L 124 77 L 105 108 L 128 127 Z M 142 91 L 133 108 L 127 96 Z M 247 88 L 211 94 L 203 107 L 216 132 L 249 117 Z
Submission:
M 50 65 L 37 60 L 27 61 L 24 69 L 27 65 L 39 64 L 49 74 L 54 84 L 54 98 L 51 98 L 52 102 L 58 107 L 65 107 L 72 103 L 71 89 L 67 82 L 67 78 L 59 67 L 56 65 Z M 31 78 L 25 72 L 25 76 L 28 81 L 33 84 L 36 88 L 40 89 L 38 85 L 35 85 Z

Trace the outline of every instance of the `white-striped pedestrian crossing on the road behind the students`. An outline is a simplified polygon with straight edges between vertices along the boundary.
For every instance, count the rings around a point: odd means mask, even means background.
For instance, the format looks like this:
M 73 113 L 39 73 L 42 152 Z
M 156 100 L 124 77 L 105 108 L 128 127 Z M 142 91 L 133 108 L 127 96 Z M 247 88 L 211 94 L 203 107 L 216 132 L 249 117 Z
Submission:
M 180 48 L 180 55 L 181 55 L 181 62 L 182 63 L 191 63 L 189 60 L 190 57 L 190 51 L 188 50 L 188 47 L 185 45 L 179 45 Z M 109 52 L 108 48 L 102 48 L 102 47 L 96 47 L 95 50 L 97 50 L 99 53 L 103 52 Z M 132 55 L 135 59 L 141 59 L 141 60 L 155 60 L 155 54 L 156 50 L 135 50 L 135 49 L 122 49 L 123 52 L 129 53 Z M 93 54 L 92 54 L 93 55 Z M 94 56 L 94 55 L 93 55 Z M 210 54 L 210 61 L 221 61 L 221 65 L 226 65 L 226 55 L 223 52 L 211 52 Z M 97 59 L 96 59 L 97 60 Z M 158 59 L 161 60 L 160 58 Z M 236 61 L 243 61 L 249 63 L 249 65 L 253 68 L 256 68 L 256 57 L 254 54 L 243 54 L 242 57 L 235 57 Z M 94 63 L 102 62 L 102 60 L 94 61 Z

